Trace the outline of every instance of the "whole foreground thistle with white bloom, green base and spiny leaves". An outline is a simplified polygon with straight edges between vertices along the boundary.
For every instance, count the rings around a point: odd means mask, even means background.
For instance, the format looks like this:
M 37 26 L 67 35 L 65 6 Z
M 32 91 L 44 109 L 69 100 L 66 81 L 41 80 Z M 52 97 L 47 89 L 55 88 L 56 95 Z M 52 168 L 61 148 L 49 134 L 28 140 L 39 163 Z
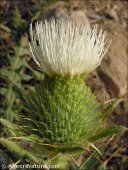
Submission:
M 40 22 L 35 29 L 30 25 L 30 50 L 44 79 L 23 94 L 17 124 L 1 119 L 8 129 L 8 138 L 1 138 L 3 145 L 22 158 L 65 169 L 72 155 L 89 149 L 100 152 L 96 141 L 124 130 L 104 123 L 111 109 L 102 113 L 84 83 L 108 50 L 105 36 L 102 29 L 72 21 Z

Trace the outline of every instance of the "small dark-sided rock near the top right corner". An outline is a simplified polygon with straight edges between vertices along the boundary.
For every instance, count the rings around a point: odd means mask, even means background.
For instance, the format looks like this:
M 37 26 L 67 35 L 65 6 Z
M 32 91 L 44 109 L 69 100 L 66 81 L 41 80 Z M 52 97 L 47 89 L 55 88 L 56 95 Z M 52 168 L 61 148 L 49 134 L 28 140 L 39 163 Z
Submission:
M 108 19 L 115 19 L 115 21 L 118 21 L 119 18 L 118 18 L 118 15 L 117 15 L 117 12 L 115 9 L 109 9 L 108 11 L 105 12 L 105 16 L 108 18 Z

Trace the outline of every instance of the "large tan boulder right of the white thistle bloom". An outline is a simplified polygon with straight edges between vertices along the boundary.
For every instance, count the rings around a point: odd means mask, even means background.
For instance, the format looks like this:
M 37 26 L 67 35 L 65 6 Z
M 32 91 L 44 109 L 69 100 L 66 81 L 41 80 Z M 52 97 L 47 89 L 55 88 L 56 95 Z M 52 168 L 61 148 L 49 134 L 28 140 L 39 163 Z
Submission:
M 127 40 L 126 30 L 120 24 L 105 25 L 112 39 L 110 49 L 98 69 L 98 75 L 109 89 L 111 97 L 127 93 Z

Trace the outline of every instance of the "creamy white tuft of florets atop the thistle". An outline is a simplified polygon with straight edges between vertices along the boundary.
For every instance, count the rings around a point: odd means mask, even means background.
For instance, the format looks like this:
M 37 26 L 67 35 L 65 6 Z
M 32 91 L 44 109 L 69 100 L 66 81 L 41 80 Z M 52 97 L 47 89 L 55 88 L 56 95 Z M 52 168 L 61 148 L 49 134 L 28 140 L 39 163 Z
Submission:
M 30 25 L 30 50 L 35 62 L 49 76 L 88 73 L 101 63 L 106 32 L 73 21 L 52 20 Z

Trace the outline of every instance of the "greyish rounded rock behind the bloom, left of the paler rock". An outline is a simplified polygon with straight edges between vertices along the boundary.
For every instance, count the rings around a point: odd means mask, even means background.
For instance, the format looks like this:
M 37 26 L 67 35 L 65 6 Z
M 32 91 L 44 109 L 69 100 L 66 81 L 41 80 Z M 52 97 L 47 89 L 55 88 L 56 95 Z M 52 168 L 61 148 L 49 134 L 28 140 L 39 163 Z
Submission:
M 52 20 L 53 18 L 55 19 L 63 19 L 63 20 L 69 20 L 70 17 L 69 15 L 61 8 L 53 8 L 49 10 L 44 16 L 43 20 Z

